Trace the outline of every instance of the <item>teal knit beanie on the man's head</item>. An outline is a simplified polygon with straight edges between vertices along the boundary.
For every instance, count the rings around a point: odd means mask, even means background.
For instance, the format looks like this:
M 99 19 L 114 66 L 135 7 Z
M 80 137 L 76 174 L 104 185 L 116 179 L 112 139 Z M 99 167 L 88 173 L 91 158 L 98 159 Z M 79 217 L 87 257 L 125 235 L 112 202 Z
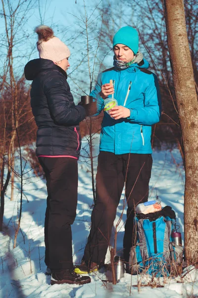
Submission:
M 117 44 L 125 45 L 129 47 L 135 55 L 138 52 L 138 42 L 138 32 L 136 29 L 130 26 L 120 28 L 113 37 L 113 47 Z

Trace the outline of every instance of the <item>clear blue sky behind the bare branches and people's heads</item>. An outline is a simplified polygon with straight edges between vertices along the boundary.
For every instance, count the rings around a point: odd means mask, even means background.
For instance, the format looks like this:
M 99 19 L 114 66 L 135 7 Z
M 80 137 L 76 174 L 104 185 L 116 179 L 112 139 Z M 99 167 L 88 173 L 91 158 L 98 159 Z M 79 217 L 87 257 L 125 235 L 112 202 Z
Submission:
M 105 1 L 104 3 L 107 5 L 107 0 L 102 1 Z M 85 0 L 88 17 L 91 15 L 90 20 L 93 20 L 93 27 L 88 30 L 89 38 L 91 40 L 90 65 L 92 70 L 94 64 L 94 55 L 97 50 L 97 40 L 94 40 L 94 38 L 97 36 L 101 27 L 99 10 L 94 9 L 96 8 L 97 4 L 101 5 L 102 1 Z M 10 0 L 10 2 L 14 7 L 18 3 L 18 0 Z M 112 5 L 115 5 L 113 0 L 109 0 L 109 2 Z M 36 33 L 34 33 L 34 28 L 41 23 L 44 23 L 45 25 L 51 26 L 55 36 L 59 37 L 70 48 L 71 67 L 68 70 L 68 74 L 70 75 L 69 83 L 71 88 L 77 94 L 82 94 L 82 90 L 80 90 L 76 82 L 74 82 L 78 79 L 79 85 L 83 85 L 83 91 L 89 93 L 89 71 L 86 59 L 86 37 L 83 35 L 83 33 L 81 33 L 83 31 L 82 19 L 85 19 L 84 0 L 27 0 L 25 5 L 28 5 L 28 3 L 34 3 L 34 5 L 26 14 L 27 22 L 24 24 L 21 32 L 19 32 L 20 36 L 17 35 L 17 44 L 13 51 L 14 56 L 16 57 L 14 71 L 17 74 L 22 74 L 24 66 L 29 60 L 39 58 L 36 48 L 38 36 Z M 1 8 L 2 5 L 0 2 L 0 10 Z M 22 15 L 23 13 L 21 13 L 21 16 Z M 119 18 L 119 26 L 123 25 L 126 25 L 125 18 L 121 16 Z M 3 17 L 0 18 L 0 34 L 5 34 Z M 1 47 L 1 49 L 2 52 L 5 51 L 5 47 Z M 109 47 L 106 47 L 106 49 L 104 49 L 104 52 L 105 51 L 107 53 L 109 51 Z M 99 63 L 103 59 L 102 55 L 103 54 L 99 52 L 97 53 L 97 64 L 94 69 L 94 81 L 96 80 L 99 72 Z M 4 59 L 5 56 L 2 55 L 0 57 L 0 68 L 4 63 Z M 82 60 L 83 63 L 77 70 L 75 70 Z M 104 60 L 105 67 L 112 67 L 112 63 L 113 52 L 110 52 Z M 87 86 L 85 82 L 88 82 Z

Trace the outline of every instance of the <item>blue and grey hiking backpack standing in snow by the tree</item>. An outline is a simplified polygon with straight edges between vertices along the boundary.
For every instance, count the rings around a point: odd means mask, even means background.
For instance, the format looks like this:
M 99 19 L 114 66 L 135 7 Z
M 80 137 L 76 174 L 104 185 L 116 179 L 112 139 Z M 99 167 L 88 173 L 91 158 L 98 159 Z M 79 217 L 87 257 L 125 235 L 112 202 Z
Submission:
M 169 276 L 170 264 L 181 260 L 183 255 L 183 248 L 171 239 L 176 226 L 174 211 L 166 206 L 152 214 L 137 214 L 134 224 L 136 245 L 131 248 L 129 271 L 132 274 L 144 271 L 156 277 Z

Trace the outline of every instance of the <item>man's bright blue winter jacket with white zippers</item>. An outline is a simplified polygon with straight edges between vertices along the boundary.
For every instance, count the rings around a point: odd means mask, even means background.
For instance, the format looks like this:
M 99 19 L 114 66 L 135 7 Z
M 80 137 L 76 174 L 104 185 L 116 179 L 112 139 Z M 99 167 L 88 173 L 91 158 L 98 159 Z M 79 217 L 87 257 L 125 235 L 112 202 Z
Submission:
M 131 111 L 128 118 L 112 119 L 106 112 L 101 125 L 100 151 L 123 153 L 152 153 L 150 137 L 151 125 L 160 118 L 161 101 L 155 74 L 148 71 L 149 64 L 142 60 L 126 70 L 116 67 L 99 74 L 91 95 L 97 100 L 97 114 L 104 108 L 100 97 L 101 85 L 114 80 L 114 98 L 118 105 Z M 111 97 L 111 95 L 109 96 Z

